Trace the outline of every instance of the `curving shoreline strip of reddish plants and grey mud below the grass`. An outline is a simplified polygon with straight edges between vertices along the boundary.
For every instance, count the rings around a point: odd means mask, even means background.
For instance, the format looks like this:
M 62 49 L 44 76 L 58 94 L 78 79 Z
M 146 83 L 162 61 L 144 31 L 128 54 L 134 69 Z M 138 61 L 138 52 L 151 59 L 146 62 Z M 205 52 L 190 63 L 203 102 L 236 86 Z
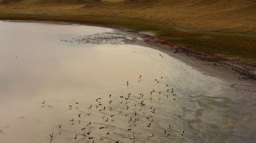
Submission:
M 84 23 L 84 22 L 71 22 L 71 21 L 69 22 L 69 21 L 59 21 L 59 20 L 35 20 L 35 19 L 34 20 L 0 19 L 0 20 L 7 21 L 7 22 L 42 22 L 42 23 L 53 23 L 53 24 L 79 24 L 79 25 L 112 28 L 114 31 L 118 31 L 118 33 L 139 36 L 140 38 L 143 39 L 143 43 L 140 42 L 136 44 L 163 51 L 169 54 L 170 56 L 173 56 L 174 58 L 177 58 L 182 62 L 189 64 L 194 68 L 198 68 L 200 71 L 203 70 L 203 72 L 211 73 L 211 75 L 218 76 L 218 74 L 214 74 L 212 70 L 218 73 L 221 71 L 227 72 L 226 70 L 229 70 L 228 72 L 232 72 L 232 71 L 236 72 L 237 74 L 235 74 L 234 77 L 238 77 L 238 79 L 240 80 L 256 79 L 256 69 L 255 67 L 252 67 L 249 64 L 231 61 L 225 58 L 220 58 L 214 55 L 198 52 L 194 49 L 190 49 L 187 47 L 179 46 L 178 44 L 164 41 L 159 37 L 155 36 L 154 34 L 150 34 L 147 32 L 138 32 L 138 31 L 131 30 L 129 28 L 124 28 L 119 26 L 91 24 L 91 23 Z M 198 60 L 196 62 L 197 64 L 191 63 L 192 58 L 194 62 L 195 60 Z M 202 65 L 198 64 L 198 62 L 204 66 L 208 65 L 208 67 L 203 67 Z M 209 66 L 211 67 L 210 69 L 209 69 Z M 219 68 L 216 68 L 217 66 Z

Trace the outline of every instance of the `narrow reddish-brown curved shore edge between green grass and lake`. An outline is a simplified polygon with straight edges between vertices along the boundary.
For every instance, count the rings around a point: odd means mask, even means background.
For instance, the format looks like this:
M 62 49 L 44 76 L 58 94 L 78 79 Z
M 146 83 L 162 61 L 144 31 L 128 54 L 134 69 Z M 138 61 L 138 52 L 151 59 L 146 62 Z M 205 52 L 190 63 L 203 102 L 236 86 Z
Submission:
M 239 77 L 242 80 L 255 80 L 256 79 L 256 68 L 243 63 L 243 62 L 237 62 L 237 61 L 231 61 L 225 58 L 220 58 L 218 56 L 206 54 L 203 52 L 198 52 L 194 49 L 190 49 L 184 46 L 179 46 L 178 44 L 174 44 L 168 41 L 164 41 L 161 38 L 143 33 L 131 30 L 129 28 L 124 28 L 120 26 L 111 26 L 108 24 L 92 24 L 92 23 L 86 23 L 86 22 L 75 22 L 75 21 L 60 21 L 60 20 L 47 20 L 47 19 L 41 19 L 41 18 L 31 18 L 31 19 L 19 19 L 19 18 L 1 18 L 2 21 L 8 21 L 8 22 L 50 22 L 50 23 L 59 23 L 59 24 L 81 24 L 81 25 L 91 25 L 91 26 L 101 26 L 101 27 L 108 27 L 113 28 L 114 30 L 118 30 L 120 32 L 130 33 L 136 36 L 139 36 L 143 38 L 144 43 L 146 46 L 154 48 L 158 47 L 159 50 L 169 50 L 173 53 L 183 53 L 186 56 L 193 56 L 197 60 L 200 61 L 207 61 L 207 62 L 213 62 L 214 66 L 223 66 L 226 69 L 232 69 L 233 71 L 236 71 L 243 77 Z M 163 49 L 165 48 L 165 49 Z M 166 53 L 166 51 L 165 51 Z M 177 58 L 177 57 L 176 57 Z M 187 57 L 189 58 L 189 57 Z

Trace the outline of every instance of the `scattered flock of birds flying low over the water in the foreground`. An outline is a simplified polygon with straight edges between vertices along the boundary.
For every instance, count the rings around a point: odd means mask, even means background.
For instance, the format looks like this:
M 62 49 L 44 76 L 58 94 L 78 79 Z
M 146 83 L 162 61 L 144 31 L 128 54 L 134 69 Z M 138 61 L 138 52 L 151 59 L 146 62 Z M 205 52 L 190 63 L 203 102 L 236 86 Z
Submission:
M 162 55 L 161 55 L 161 56 L 162 56 Z M 138 78 L 139 78 L 139 81 L 142 80 L 142 75 L 139 75 Z M 162 79 L 163 77 L 161 76 L 160 78 Z M 159 83 L 159 80 L 155 79 L 155 81 L 156 81 L 157 83 Z M 126 81 L 126 86 L 129 87 L 129 85 L 130 85 L 130 82 L 129 82 L 129 81 Z M 164 87 L 166 87 L 166 91 L 158 91 L 158 92 L 157 92 L 157 91 L 155 91 L 155 90 L 152 90 L 150 93 L 148 93 L 148 96 L 153 96 L 155 93 L 156 93 L 157 95 L 158 95 L 158 94 L 161 95 L 162 92 L 166 92 L 166 93 L 169 93 L 170 95 L 176 96 L 175 91 L 174 91 L 174 90 L 175 90 L 174 88 L 170 88 L 170 86 L 169 86 L 168 84 L 165 84 Z M 124 101 L 124 100 L 125 100 L 125 101 L 131 100 L 131 96 L 132 96 L 132 95 L 133 95 L 132 92 L 127 93 L 127 96 L 120 95 L 118 98 L 120 98 L 121 101 L 118 101 L 118 104 L 123 104 L 123 101 Z M 142 106 L 142 107 L 146 107 L 147 105 L 145 104 L 144 100 L 142 100 L 144 94 L 143 94 L 143 93 L 139 93 L 138 95 L 139 95 L 139 99 L 141 99 L 141 100 L 137 101 L 137 103 L 135 103 L 135 104 L 133 104 L 133 105 L 130 105 L 130 106 Z M 112 97 L 113 97 L 112 94 L 106 96 L 106 98 L 110 98 L 109 104 L 111 104 L 112 102 L 114 102 Z M 133 97 L 134 97 L 134 96 L 133 96 Z M 122 100 L 122 99 L 124 99 L 124 100 Z M 96 98 L 96 99 L 95 99 L 95 101 L 96 101 L 96 109 L 97 109 L 98 107 L 102 106 L 102 109 L 99 109 L 100 112 L 101 112 L 101 111 L 104 111 L 104 110 L 108 110 L 108 109 L 106 108 L 106 106 L 102 105 L 101 100 L 102 100 L 101 98 Z M 152 98 L 150 98 L 150 100 L 152 100 Z M 175 100 L 175 98 L 174 98 L 174 100 Z M 43 101 L 43 102 L 41 103 L 42 106 L 44 106 L 45 104 L 46 104 L 45 101 Z M 79 105 L 80 103 L 79 103 L 79 102 L 75 102 L 75 104 L 76 104 L 76 105 Z M 126 106 L 126 107 L 124 108 L 124 110 L 129 110 L 130 107 L 129 107 L 129 105 L 127 104 L 127 102 L 124 103 L 124 104 L 125 104 L 125 106 Z M 119 105 L 119 106 L 120 106 L 120 105 Z M 72 108 L 72 105 L 69 105 L 68 107 L 71 109 L 71 108 Z M 88 109 L 92 109 L 93 107 L 94 107 L 94 106 L 91 104 L 91 105 L 89 105 Z M 145 117 L 147 120 L 150 120 L 150 118 L 153 118 L 154 115 L 155 115 L 155 113 L 157 112 L 156 109 L 155 109 L 154 107 L 152 107 L 152 106 L 150 107 L 150 109 L 151 109 L 151 111 L 148 112 L 148 114 L 150 114 L 150 116 L 146 116 L 146 117 Z M 113 110 L 113 108 L 110 107 L 110 110 Z M 136 122 L 140 119 L 139 111 L 140 111 L 140 110 L 134 111 L 134 116 L 135 116 L 135 118 L 128 118 L 128 119 L 127 119 L 127 122 L 134 122 L 134 123 L 136 123 Z M 81 113 L 78 113 L 77 116 L 78 116 L 78 119 L 82 118 Z M 115 115 L 114 115 L 114 114 L 111 114 L 109 117 L 105 118 L 102 122 L 109 122 L 110 119 L 112 119 L 112 118 L 115 118 Z M 142 117 L 142 118 L 143 118 L 143 117 Z M 92 120 L 93 120 L 93 119 L 92 119 Z M 80 121 L 80 120 L 79 120 L 79 121 Z M 69 122 L 74 122 L 74 118 L 70 119 Z M 152 124 L 154 124 L 154 123 L 148 123 L 148 124 L 147 124 L 147 127 L 148 127 L 148 128 L 151 128 Z M 90 126 L 93 126 L 93 125 L 92 125 L 92 122 L 88 122 L 86 125 L 80 127 L 80 130 L 81 130 L 81 131 L 87 130 L 87 128 L 90 127 Z M 63 126 L 62 126 L 61 124 L 58 125 L 58 128 L 59 128 L 59 129 L 62 129 L 62 127 L 63 127 Z M 98 130 L 101 130 L 101 129 L 104 129 L 104 128 L 107 128 L 107 126 L 99 126 L 99 127 L 98 127 Z M 131 131 L 131 130 L 132 130 L 131 127 L 127 128 L 127 131 Z M 162 131 L 162 133 L 165 135 L 168 130 L 172 130 L 172 126 L 171 126 L 171 125 L 168 125 L 168 126 L 166 127 L 166 129 Z M 155 137 L 154 131 L 152 131 L 152 132 L 153 132 L 153 133 L 152 133 L 151 135 L 148 135 L 148 137 L 150 137 L 150 138 Z M 106 131 L 106 132 L 105 132 L 105 135 L 106 135 L 106 136 L 108 136 L 108 135 L 110 135 L 110 134 L 111 134 L 110 131 Z M 94 136 L 91 135 L 91 131 L 87 131 L 86 134 L 85 134 L 85 132 L 84 132 L 84 133 L 80 133 L 80 134 L 77 133 L 77 134 L 74 134 L 73 137 L 70 137 L 70 138 L 77 139 L 77 138 L 79 137 L 79 135 L 82 135 L 82 136 L 87 136 L 87 135 L 88 135 L 88 139 L 92 139 L 91 142 L 95 142 L 95 140 L 93 140 Z M 181 131 L 181 132 L 180 132 L 180 135 L 183 136 L 183 135 L 184 135 L 184 131 Z M 50 136 L 51 139 L 54 138 L 54 132 L 51 132 L 51 134 L 49 134 L 49 136 Z M 135 139 L 136 139 L 136 134 L 131 135 L 129 138 L 135 140 Z M 115 140 L 116 143 L 119 142 L 118 139 L 114 139 L 114 140 Z

